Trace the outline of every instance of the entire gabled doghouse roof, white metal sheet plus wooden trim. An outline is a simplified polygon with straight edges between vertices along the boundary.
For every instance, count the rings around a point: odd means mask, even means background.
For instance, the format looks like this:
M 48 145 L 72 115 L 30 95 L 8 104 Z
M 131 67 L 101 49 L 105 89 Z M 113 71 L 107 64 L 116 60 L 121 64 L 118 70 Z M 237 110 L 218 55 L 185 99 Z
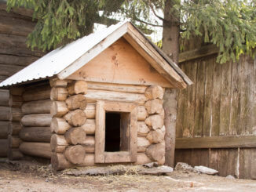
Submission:
M 54 76 L 60 79 L 68 78 L 70 74 L 79 70 L 121 37 L 126 38 L 134 49 L 137 49 L 152 64 L 152 67 L 159 71 L 159 74 L 169 81 L 177 81 L 177 87 L 182 89 L 186 84 L 192 84 L 176 63 L 150 42 L 141 31 L 130 22 L 120 22 L 53 50 L 7 78 L 0 83 L 0 87 L 39 81 Z

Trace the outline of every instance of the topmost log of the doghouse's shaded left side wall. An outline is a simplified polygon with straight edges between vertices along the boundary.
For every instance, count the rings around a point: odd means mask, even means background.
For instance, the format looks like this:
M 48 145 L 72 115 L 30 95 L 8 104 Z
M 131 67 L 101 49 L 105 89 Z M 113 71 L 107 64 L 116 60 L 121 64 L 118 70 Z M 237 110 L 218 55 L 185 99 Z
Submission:
M 50 97 L 51 88 L 49 85 L 40 85 L 33 89 L 25 90 L 23 94 L 24 101 L 46 100 Z

